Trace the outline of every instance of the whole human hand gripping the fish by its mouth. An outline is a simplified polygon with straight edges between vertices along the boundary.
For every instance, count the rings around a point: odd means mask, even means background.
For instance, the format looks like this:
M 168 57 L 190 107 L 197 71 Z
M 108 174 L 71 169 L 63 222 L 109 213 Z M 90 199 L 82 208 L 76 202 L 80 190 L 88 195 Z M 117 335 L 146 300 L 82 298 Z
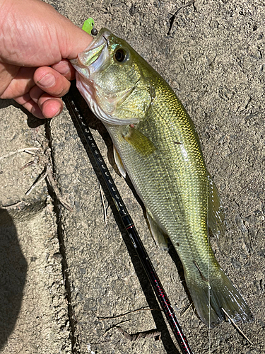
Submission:
M 0 0 L 0 98 L 37 118 L 61 113 L 76 58 L 92 38 L 40 0 Z

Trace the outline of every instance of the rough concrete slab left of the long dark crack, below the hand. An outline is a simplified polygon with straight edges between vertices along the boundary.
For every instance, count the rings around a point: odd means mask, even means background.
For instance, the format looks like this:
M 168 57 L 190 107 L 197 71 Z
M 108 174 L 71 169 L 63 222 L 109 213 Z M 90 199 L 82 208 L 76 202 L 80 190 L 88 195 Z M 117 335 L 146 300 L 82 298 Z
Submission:
M 12 101 L 0 101 L 0 107 L 0 353 L 71 353 L 47 184 L 25 195 L 49 161 L 45 127 Z

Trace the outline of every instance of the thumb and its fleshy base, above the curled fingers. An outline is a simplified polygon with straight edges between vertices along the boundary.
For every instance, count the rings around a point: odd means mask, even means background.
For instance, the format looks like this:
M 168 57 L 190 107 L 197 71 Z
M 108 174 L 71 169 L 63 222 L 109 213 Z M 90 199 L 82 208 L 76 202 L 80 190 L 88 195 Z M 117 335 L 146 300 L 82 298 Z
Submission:
M 0 60 L 23 67 L 74 59 L 92 37 L 44 1 L 0 0 Z

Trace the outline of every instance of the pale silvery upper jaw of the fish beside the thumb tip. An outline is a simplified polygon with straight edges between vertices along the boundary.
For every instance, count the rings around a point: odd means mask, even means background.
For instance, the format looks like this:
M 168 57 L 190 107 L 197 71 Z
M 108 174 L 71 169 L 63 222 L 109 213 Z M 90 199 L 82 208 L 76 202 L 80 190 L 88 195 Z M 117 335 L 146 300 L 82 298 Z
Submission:
M 79 53 L 78 61 L 88 69 L 89 75 L 103 69 L 108 57 L 107 45 L 110 35 L 109 30 L 102 28 L 86 50 Z

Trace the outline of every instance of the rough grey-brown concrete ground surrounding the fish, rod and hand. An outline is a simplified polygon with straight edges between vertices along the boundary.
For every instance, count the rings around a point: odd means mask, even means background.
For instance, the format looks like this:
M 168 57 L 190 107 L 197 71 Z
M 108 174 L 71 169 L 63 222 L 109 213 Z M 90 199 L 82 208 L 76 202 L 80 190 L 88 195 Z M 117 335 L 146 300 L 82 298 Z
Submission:
M 110 138 L 87 116 L 194 353 L 265 353 L 263 1 L 50 3 L 76 25 L 93 17 L 97 28 L 105 26 L 127 40 L 187 108 L 225 207 L 227 232 L 211 244 L 252 309 L 255 321 L 240 329 L 253 345 L 228 322 L 209 333 L 196 317 L 175 253 L 155 246 L 141 206 L 112 169 Z M 0 269 L 10 274 L 0 316 L 1 353 L 179 353 L 108 196 L 103 197 L 105 224 L 98 179 L 67 110 L 43 127 L 12 102 L 1 101 L 0 107 L 0 156 L 40 148 L 39 163 L 22 171 L 33 156 L 18 153 L 0 160 L 1 205 L 23 200 L 1 212 L 2 248 L 8 252 L 2 251 Z M 48 146 L 59 188 L 73 211 L 61 207 L 45 181 L 24 195 L 49 161 Z M 143 308 L 154 311 L 132 312 Z M 126 315 L 115 317 L 121 314 Z M 161 341 L 127 341 L 117 324 L 129 333 L 158 329 Z

